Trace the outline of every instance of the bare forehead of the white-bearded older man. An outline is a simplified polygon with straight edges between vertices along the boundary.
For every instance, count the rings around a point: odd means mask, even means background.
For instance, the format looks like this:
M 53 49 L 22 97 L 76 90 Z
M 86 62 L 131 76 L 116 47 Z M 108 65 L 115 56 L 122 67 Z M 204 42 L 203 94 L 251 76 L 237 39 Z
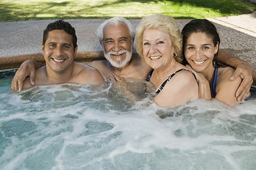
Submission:
M 103 39 L 105 38 L 119 38 L 119 37 L 131 37 L 129 28 L 124 22 L 120 22 L 118 25 L 108 23 L 103 28 Z

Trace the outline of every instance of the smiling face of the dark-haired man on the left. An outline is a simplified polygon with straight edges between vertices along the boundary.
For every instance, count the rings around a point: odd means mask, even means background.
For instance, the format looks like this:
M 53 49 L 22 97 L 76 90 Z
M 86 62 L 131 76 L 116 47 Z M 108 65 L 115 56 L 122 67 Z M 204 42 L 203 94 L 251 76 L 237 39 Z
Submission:
M 77 47 L 74 50 L 72 36 L 64 30 L 50 31 L 45 45 L 42 44 L 42 54 L 46 65 L 50 70 L 56 72 L 63 72 L 73 68 L 76 52 Z

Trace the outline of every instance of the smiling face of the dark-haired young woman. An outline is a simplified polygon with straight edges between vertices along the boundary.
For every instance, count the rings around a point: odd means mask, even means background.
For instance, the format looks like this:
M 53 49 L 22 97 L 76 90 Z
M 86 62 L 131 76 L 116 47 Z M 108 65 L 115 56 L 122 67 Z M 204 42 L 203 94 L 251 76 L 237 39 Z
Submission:
M 218 52 L 218 43 L 214 46 L 212 38 L 205 33 L 192 33 L 184 46 L 184 55 L 188 64 L 197 72 L 214 70 L 212 60 Z

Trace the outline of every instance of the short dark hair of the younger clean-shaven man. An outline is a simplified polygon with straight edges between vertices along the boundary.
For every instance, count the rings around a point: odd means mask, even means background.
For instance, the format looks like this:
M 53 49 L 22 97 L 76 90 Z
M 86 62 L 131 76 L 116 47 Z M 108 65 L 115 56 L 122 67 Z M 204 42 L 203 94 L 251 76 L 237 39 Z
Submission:
M 75 51 L 75 48 L 77 46 L 76 31 L 74 27 L 70 25 L 69 22 L 65 22 L 62 19 L 56 20 L 55 22 L 51 22 L 48 24 L 48 26 L 44 30 L 44 35 L 42 36 L 42 44 L 45 45 L 46 39 L 48 38 L 48 33 L 53 30 L 64 30 L 66 33 L 72 35 L 72 42 L 73 42 L 74 51 Z

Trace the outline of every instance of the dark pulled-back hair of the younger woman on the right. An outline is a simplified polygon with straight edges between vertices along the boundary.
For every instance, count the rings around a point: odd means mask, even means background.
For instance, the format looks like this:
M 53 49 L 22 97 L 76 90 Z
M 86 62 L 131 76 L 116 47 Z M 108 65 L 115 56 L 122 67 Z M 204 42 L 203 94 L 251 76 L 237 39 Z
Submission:
M 209 37 L 211 37 L 212 42 L 214 43 L 214 46 L 218 44 L 218 52 L 219 52 L 219 46 L 220 46 L 220 36 L 217 32 L 216 27 L 214 26 L 213 23 L 211 23 L 209 20 L 207 19 L 193 19 L 190 22 L 188 22 L 184 28 L 181 31 L 182 34 L 182 38 L 183 38 L 183 43 L 182 43 L 182 54 L 184 56 L 185 59 L 185 55 L 184 55 L 184 48 L 185 48 L 185 44 L 187 42 L 188 37 L 192 34 L 192 33 L 205 33 L 206 35 L 208 35 Z M 218 52 L 214 55 L 214 59 L 212 60 L 212 64 L 214 65 L 214 67 L 220 67 L 220 66 L 225 66 L 222 63 L 219 63 L 217 61 L 217 56 L 218 56 Z M 186 60 L 183 60 L 183 64 L 186 65 L 188 64 Z

